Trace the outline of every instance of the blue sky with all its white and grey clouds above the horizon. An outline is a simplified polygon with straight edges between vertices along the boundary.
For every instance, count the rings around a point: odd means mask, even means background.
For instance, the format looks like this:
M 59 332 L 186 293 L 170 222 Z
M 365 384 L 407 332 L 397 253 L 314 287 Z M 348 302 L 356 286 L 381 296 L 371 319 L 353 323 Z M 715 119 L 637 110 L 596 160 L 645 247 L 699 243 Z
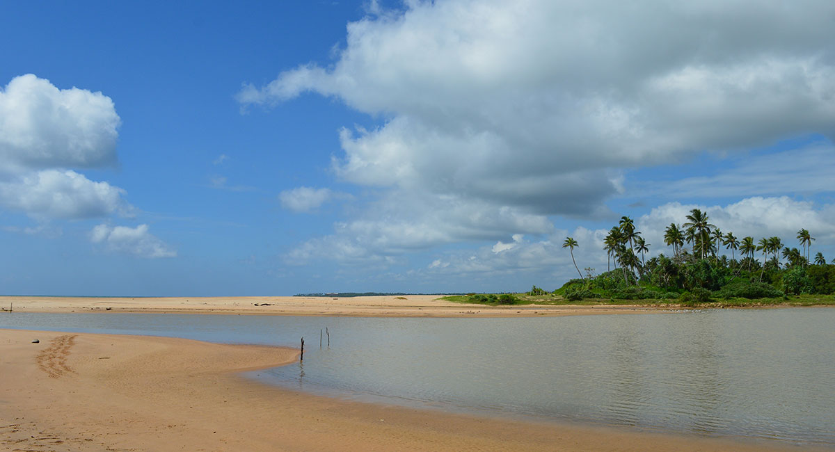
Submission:
M 13 2 L 0 43 L 0 294 L 551 290 L 692 208 L 835 258 L 829 0 Z

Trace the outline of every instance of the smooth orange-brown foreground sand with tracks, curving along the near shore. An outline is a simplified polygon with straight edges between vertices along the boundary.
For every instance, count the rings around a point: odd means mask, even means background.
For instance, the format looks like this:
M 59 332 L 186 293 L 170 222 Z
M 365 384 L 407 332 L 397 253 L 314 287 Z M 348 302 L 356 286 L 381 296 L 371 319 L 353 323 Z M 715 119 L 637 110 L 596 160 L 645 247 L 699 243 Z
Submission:
M 265 346 L 0 329 L 0 450 L 801 449 L 365 404 L 239 374 L 295 359 Z

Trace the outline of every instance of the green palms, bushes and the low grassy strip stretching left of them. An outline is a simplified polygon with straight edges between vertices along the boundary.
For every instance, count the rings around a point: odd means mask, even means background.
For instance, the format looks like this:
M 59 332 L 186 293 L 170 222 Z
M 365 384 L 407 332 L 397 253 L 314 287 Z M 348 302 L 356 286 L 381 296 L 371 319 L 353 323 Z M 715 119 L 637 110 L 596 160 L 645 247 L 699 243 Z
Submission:
M 827 264 L 821 253 L 810 262 L 815 239 L 807 229 L 797 231 L 801 247 L 797 249 L 783 246 L 779 237 L 737 239 L 716 228 L 697 208 L 685 219 L 681 226 L 671 223 L 665 229 L 664 243 L 671 247 L 670 256 L 660 254 L 645 260 L 650 244 L 631 218 L 622 217 L 604 240 L 607 271 L 603 274 L 593 276 L 593 269 L 586 269 L 585 277 L 580 273 L 574 259 L 574 248 L 579 244 L 567 237 L 563 248 L 569 249 L 579 279 L 571 279 L 550 293 L 534 285 L 525 294 L 468 294 L 444 299 L 480 304 L 688 307 L 835 304 L 835 264 Z M 730 259 L 721 254 L 723 246 L 731 252 Z M 740 259 L 736 259 L 737 250 Z

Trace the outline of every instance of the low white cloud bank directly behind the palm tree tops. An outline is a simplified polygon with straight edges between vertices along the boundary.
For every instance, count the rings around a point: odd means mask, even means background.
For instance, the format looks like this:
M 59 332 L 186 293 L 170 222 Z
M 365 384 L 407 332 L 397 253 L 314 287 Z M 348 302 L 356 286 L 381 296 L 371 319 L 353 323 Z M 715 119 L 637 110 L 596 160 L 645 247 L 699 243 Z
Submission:
M 753 236 L 755 241 L 762 237 L 777 236 L 782 238 L 785 246 L 799 248 L 795 236 L 797 230 L 805 228 L 816 238 L 814 249 L 827 254 L 827 249 L 832 249 L 835 243 L 833 205 L 816 206 L 787 197 L 751 197 L 737 203 L 713 206 L 665 203 L 635 220 L 637 229 L 650 244 L 650 254 L 646 259 L 660 253 L 671 254 L 671 249 L 664 244 L 664 229 L 670 223 L 685 223 L 686 215 L 693 208 L 701 208 L 708 214 L 711 223 L 725 233 L 733 232 L 739 239 L 747 235 Z M 615 225 L 615 221 L 612 225 Z M 603 243 L 608 233 L 608 229 L 579 227 L 572 231 L 557 229 L 542 239 L 514 235 L 511 240 L 499 241 L 492 246 L 445 252 L 420 272 L 433 279 L 447 275 L 458 279 L 478 279 L 484 284 L 519 281 L 514 289 L 524 289 L 524 285 L 520 284 L 552 287 L 578 277 L 568 249 L 562 248 L 565 237 L 571 236 L 579 243 L 574 249 L 579 269 L 583 271 L 589 267 L 595 269 L 595 274 L 600 274 L 610 268 Z M 721 252 L 730 256 L 730 251 L 724 248 Z M 738 252 L 736 256 L 739 256 Z

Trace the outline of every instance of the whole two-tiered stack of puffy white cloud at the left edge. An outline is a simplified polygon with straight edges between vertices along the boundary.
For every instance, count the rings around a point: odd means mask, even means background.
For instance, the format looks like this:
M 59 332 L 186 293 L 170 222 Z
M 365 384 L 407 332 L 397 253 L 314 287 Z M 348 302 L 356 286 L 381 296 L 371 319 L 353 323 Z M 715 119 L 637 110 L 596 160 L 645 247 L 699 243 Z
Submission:
M 114 164 L 118 127 L 102 93 L 13 78 L 0 90 L 0 206 L 39 221 L 129 216 L 124 189 L 67 169 Z

